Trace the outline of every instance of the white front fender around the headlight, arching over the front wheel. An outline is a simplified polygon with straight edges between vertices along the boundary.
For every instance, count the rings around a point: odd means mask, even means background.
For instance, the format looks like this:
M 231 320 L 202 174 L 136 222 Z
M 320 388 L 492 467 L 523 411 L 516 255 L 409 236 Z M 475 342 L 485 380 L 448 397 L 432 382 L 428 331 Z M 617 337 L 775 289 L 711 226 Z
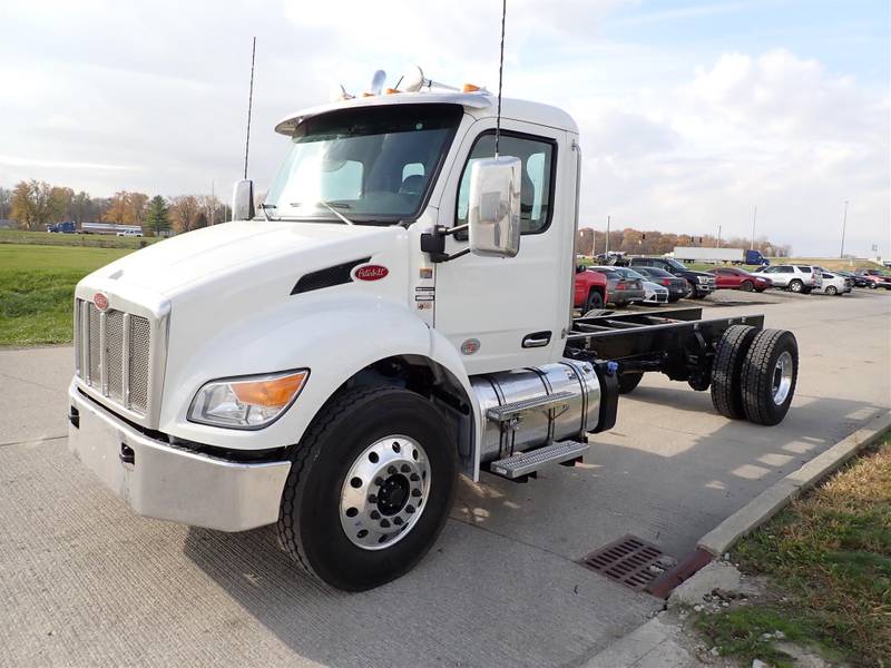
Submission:
M 173 327 L 189 326 L 177 317 L 172 323 Z M 172 331 L 174 335 L 176 332 Z M 467 394 L 472 407 L 472 466 L 467 466 L 467 473 L 476 480 L 481 419 L 458 351 L 403 305 L 372 295 L 307 298 L 291 308 L 253 314 L 203 340 L 182 357 L 168 358 L 159 429 L 180 439 L 226 449 L 292 445 L 344 382 L 374 362 L 405 355 L 428 360 L 448 371 Z M 309 369 L 310 377 L 294 404 L 267 428 L 233 430 L 196 424 L 186 418 L 195 393 L 208 381 L 288 369 Z

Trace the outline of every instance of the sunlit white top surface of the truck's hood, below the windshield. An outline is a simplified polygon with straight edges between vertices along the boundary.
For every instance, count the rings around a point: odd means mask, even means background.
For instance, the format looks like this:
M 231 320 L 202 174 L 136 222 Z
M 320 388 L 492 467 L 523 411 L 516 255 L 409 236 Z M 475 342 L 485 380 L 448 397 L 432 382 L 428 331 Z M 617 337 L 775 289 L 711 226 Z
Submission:
M 330 266 L 369 257 L 400 233 L 404 233 L 401 227 L 235 220 L 158 242 L 98 269 L 91 277 L 169 296 L 224 274 L 249 271 L 251 265 L 263 271 L 283 256 L 293 263 L 295 276 L 320 262 Z

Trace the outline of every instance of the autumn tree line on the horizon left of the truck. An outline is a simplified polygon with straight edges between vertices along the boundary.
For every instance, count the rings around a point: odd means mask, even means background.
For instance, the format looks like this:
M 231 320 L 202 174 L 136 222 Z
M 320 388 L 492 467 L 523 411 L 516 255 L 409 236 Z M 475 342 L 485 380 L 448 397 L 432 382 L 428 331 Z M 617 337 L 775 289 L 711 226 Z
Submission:
M 74 220 L 136 225 L 146 236 L 160 236 L 207 227 L 232 218 L 232 209 L 212 195 L 177 195 L 149 198 L 145 193 L 119 190 L 111 197 L 53 186 L 46 181 L 20 181 L 0 187 L 0 220 L 14 220 L 20 229 L 45 230 L 47 225 Z

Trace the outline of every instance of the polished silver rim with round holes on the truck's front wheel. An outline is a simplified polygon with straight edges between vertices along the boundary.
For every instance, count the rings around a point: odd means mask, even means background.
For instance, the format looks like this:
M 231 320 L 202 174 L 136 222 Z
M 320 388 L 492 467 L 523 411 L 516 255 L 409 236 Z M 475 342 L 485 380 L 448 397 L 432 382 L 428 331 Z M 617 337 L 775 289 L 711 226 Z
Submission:
M 393 435 L 369 445 L 341 490 L 341 527 L 364 550 L 399 542 L 418 523 L 430 493 L 430 464 L 420 443 Z

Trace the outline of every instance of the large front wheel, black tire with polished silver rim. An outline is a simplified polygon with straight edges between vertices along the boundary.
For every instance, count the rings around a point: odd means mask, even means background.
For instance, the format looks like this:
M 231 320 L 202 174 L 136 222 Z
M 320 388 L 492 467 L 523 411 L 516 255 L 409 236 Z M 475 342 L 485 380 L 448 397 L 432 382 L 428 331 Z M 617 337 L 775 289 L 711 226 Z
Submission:
M 452 504 L 450 433 L 439 411 L 408 390 L 361 386 L 336 395 L 292 455 L 277 523 L 285 551 L 350 591 L 409 571 Z

